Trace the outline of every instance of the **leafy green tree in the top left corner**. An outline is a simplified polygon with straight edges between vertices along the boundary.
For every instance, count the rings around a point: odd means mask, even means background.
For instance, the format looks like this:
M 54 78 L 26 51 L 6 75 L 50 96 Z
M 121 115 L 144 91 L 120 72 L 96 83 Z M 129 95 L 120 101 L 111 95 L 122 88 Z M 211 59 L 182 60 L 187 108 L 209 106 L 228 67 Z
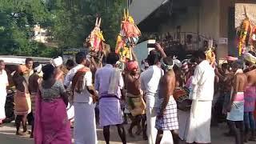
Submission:
M 52 56 L 46 46 L 32 41 L 34 24 L 48 20 L 49 13 L 41 0 L 0 1 L 0 53 L 13 55 Z

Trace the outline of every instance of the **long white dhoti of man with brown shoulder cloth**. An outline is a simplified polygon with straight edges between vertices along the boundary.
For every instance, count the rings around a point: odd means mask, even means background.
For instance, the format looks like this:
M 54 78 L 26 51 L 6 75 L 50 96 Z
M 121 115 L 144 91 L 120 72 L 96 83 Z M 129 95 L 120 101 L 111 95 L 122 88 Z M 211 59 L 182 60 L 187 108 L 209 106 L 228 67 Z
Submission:
M 74 144 L 96 144 L 94 104 L 74 102 Z

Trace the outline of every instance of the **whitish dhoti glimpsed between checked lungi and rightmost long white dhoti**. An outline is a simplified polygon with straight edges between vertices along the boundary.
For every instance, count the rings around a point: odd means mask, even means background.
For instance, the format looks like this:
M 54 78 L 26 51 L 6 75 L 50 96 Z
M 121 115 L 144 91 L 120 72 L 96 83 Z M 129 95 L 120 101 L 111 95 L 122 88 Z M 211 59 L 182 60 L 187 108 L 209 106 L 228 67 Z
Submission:
M 178 110 L 178 136 L 182 141 L 186 140 L 190 123 L 190 111 Z

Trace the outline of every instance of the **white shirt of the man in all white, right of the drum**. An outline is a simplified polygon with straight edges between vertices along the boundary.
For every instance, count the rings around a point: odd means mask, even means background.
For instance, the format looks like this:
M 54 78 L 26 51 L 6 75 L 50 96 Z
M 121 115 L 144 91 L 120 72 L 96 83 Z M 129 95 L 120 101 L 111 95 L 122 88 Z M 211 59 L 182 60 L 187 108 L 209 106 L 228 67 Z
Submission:
M 202 61 L 194 70 L 192 92 L 194 100 L 212 101 L 214 97 L 214 68 L 208 61 Z

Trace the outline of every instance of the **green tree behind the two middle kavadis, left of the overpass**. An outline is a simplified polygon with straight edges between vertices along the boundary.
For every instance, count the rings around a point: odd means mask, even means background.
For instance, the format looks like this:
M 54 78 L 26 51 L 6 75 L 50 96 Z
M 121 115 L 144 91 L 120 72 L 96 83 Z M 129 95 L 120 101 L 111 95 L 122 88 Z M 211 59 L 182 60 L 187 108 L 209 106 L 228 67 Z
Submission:
M 82 47 L 94 28 L 97 16 L 102 18 L 102 31 L 113 48 L 120 30 L 123 0 L 56 0 L 50 2 L 54 25 L 50 28 L 61 47 Z

